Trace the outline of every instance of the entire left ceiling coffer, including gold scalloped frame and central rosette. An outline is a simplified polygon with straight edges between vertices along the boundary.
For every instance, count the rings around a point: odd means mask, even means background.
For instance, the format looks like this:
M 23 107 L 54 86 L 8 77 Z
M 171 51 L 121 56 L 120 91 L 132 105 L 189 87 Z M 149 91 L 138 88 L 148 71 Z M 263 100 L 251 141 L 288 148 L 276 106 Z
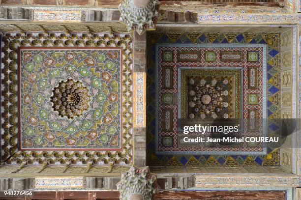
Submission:
M 132 162 L 131 35 L 2 41 L 2 162 Z

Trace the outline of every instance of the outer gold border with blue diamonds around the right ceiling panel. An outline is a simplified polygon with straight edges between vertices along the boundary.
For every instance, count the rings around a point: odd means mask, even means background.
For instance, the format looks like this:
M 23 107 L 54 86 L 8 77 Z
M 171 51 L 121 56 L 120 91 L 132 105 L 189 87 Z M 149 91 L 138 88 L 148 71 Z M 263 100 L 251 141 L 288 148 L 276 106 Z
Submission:
M 237 39 L 239 37 L 239 40 Z M 155 45 L 164 44 L 267 44 L 267 117 L 280 118 L 280 34 L 253 32 L 152 32 L 147 48 L 147 165 L 149 166 L 279 166 L 280 150 L 267 147 L 268 154 L 253 155 L 157 155 L 155 154 Z M 272 51 L 273 50 L 273 51 Z M 271 52 L 272 51 L 272 52 Z M 271 54 L 269 54 L 271 52 Z M 211 58 L 211 57 L 208 57 Z M 252 57 L 254 58 L 254 57 Z M 197 59 L 197 57 L 195 57 Z M 273 87 L 278 89 L 275 90 Z M 271 90 L 271 91 L 270 91 Z M 272 108 L 272 109 L 271 109 Z M 277 130 L 268 130 L 268 134 Z M 171 140 L 166 140 L 171 144 Z

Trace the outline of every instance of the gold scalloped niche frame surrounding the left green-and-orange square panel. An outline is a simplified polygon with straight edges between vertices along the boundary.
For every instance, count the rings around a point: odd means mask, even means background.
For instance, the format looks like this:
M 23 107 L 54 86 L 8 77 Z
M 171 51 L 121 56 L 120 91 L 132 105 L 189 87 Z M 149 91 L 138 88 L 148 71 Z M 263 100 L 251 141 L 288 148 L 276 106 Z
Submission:
M 80 26 L 80 25 L 79 25 Z M 16 95 L 13 89 L 17 88 L 17 69 L 18 65 L 18 47 L 20 46 L 29 46 L 29 47 L 48 47 L 48 46 L 61 46 L 61 47 L 72 47 L 72 46 L 82 46 L 86 47 L 88 44 L 86 43 L 89 36 L 3 36 L 3 47 L 2 53 L 4 57 L 2 58 L 3 62 L 3 91 L 1 92 L 3 99 L 3 111 L 2 114 L 2 126 L 3 135 L 2 138 L 5 138 L 5 142 L 1 145 L 1 158 L 2 160 L 6 160 L 5 164 L 21 164 L 22 162 L 26 162 L 28 164 L 31 163 L 47 163 L 49 165 L 53 165 L 56 162 L 60 162 L 61 164 L 72 163 L 72 164 L 84 164 L 88 162 L 94 162 L 99 164 L 108 164 L 108 163 L 120 163 L 120 164 L 130 164 L 132 162 L 132 118 L 126 117 L 125 123 L 127 127 L 124 127 L 123 131 L 123 149 L 121 152 L 118 151 L 19 151 L 16 141 L 18 134 L 17 127 L 17 108 L 18 108 L 18 96 Z M 67 43 L 66 41 L 73 41 L 73 43 Z M 104 36 L 95 36 L 92 41 L 93 44 L 91 46 L 99 47 L 109 46 L 110 40 L 116 41 L 115 45 L 123 48 L 123 66 L 122 66 L 122 77 L 124 81 L 128 81 L 131 83 L 133 77 L 130 70 L 130 66 L 132 65 L 132 37 L 131 35 L 125 34 L 123 36 L 119 35 L 104 35 Z M 32 42 L 30 42 L 32 41 Z M 44 41 L 44 42 L 43 42 Z M 8 71 L 10 73 L 8 74 Z M 10 92 L 8 93 L 8 88 Z M 128 109 L 132 108 L 132 90 L 125 89 L 123 94 L 129 94 L 128 96 L 123 95 L 124 101 L 128 102 Z M 129 113 L 132 116 L 132 113 Z M 13 169 L 12 166 L 8 167 L 9 169 Z M 19 167 L 17 167 L 19 168 Z M 47 168 L 46 168 L 47 169 Z M 63 167 L 63 169 L 65 169 Z M 62 170 L 63 171 L 63 170 Z M 58 171 L 53 170 L 54 173 Z

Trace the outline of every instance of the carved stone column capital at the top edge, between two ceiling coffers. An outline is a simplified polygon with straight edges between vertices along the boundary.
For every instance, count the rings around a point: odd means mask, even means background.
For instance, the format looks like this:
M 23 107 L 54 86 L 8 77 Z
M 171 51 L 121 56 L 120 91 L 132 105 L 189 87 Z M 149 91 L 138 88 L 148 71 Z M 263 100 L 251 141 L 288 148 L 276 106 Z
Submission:
M 120 21 L 129 31 L 136 30 L 140 35 L 149 29 L 155 29 L 159 16 L 158 0 L 122 0 L 119 5 Z

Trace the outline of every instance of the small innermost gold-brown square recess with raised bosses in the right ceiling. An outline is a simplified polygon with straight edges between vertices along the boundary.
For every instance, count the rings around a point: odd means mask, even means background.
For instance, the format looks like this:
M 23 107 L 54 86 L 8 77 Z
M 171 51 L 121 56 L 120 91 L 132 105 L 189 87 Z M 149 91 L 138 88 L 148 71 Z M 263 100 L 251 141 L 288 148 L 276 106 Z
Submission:
M 179 67 L 178 71 L 182 118 L 241 118 L 241 68 Z

